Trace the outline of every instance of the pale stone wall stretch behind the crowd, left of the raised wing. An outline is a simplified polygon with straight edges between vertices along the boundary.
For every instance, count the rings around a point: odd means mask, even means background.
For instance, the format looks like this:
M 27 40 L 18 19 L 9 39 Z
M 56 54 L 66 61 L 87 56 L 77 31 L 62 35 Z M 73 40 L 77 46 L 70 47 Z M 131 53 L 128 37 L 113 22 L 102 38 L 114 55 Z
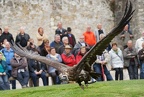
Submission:
M 39 27 L 43 27 L 52 41 L 57 23 L 72 28 L 78 38 L 86 25 L 96 28 L 102 23 L 109 32 L 114 26 L 109 0 L 0 0 L 0 27 L 9 26 L 14 37 L 21 26 L 36 40 Z

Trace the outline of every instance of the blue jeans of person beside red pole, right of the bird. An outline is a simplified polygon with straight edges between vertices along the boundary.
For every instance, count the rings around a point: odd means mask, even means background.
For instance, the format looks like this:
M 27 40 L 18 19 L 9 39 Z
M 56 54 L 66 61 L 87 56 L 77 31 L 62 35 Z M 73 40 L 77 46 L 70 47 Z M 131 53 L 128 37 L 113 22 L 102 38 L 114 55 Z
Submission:
M 95 71 L 96 73 L 102 73 L 101 64 L 95 63 L 94 66 L 93 66 L 93 68 L 94 68 L 94 71 Z M 113 80 L 110 72 L 108 71 L 108 69 L 107 69 L 107 67 L 106 67 L 105 65 L 103 65 L 103 69 L 104 69 L 104 74 L 105 74 L 105 76 L 106 76 L 106 78 L 107 78 L 107 81 Z M 103 81 L 104 79 L 102 78 L 102 75 L 101 75 L 101 76 L 98 77 L 98 79 L 96 79 L 96 80 L 97 80 L 97 81 Z

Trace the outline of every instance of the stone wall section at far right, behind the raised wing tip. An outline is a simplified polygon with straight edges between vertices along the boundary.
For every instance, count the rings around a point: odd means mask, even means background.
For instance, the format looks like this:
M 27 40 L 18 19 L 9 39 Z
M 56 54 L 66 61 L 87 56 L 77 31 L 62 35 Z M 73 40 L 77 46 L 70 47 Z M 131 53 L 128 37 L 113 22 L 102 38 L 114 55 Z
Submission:
M 115 24 L 120 20 L 122 14 L 124 13 L 125 4 L 127 0 L 115 0 Z M 134 16 L 130 21 L 130 26 L 132 33 L 134 34 L 134 44 L 135 41 L 141 37 L 141 32 L 144 31 L 144 0 L 131 0 L 133 7 L 135 9 Z M 117 37 L 117 40 L 119 38 Z M 121 44 L 121 43 L 120 43 Z

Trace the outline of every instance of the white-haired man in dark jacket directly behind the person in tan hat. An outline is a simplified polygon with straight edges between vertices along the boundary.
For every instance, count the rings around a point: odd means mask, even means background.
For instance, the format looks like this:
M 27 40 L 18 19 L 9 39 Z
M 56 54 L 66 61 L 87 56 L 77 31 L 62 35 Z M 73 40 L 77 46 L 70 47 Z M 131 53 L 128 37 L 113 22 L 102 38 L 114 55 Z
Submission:
M 70 45 L 69 44 L 69 41 L 68 41 L 68 37 L 63 37 L 62 38 L 62 42 L 63 42 L 63 45 L 61 45 L 60 47 L 59 47 L 59 49 L 58 49 L 58 53 L 61 55 L 63 52 L 64 52 L 64 50 L 65 50 L 65 46 L 66 45 Z M 71 46 L 71 45 L 70 45 Z M 72 47 L 72 46 L 71 46 Z

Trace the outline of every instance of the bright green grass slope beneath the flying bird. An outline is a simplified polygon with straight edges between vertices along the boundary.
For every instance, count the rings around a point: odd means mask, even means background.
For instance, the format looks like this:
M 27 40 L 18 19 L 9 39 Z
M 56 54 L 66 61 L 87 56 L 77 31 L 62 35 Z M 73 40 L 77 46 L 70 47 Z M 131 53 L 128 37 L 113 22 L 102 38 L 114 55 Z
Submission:
M 144 97 L 144 80 L 97 82 L 85 90 L 66 84 L 0 91 L 0 97 Z

